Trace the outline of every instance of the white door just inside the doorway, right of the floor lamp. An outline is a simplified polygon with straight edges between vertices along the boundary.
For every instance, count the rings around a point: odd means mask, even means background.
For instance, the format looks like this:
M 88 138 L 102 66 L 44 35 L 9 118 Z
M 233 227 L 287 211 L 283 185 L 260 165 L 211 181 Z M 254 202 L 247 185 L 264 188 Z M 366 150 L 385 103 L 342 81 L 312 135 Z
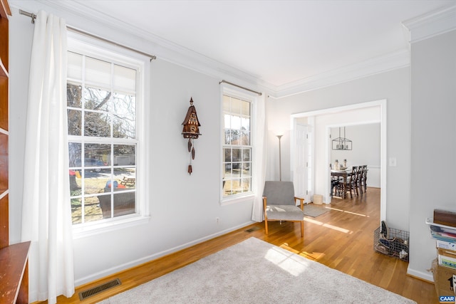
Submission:
M 294 191 L 296 196 L 311 201 L 311 132 L 308 125 L 296 124 L 294 150 Z

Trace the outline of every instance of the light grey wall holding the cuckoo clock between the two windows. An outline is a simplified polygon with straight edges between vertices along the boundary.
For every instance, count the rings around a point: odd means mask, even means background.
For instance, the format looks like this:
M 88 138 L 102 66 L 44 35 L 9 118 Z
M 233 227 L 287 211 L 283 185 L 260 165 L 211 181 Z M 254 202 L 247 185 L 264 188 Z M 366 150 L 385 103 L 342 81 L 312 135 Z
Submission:
M 36 12 L 36 9 L 29 11 Z M 68 12 L 61 12 L 59 16 L 66 14 Z M 30 18 L 19 15 L 16 8 L 10 21 L 10 240 L 17 243 L 21 241 L 26 98 L 33 24 Z M 87 26 L 82 19 L 73 19 L 71 25 Z M 94 27 L 95 30 L 102 31 L 103 27 Z M 116 35 L 117 41 L 128 40 L 121 32 Z M 150 49 L 150 53 L 154 50 Z M 147 130 L 150 221 L 75 239 L 76 285 L 252 223 L 252 199 L 225 206 L 219 202 L 221 79 L 161 58 L 152 61 L 151 74 L 150 112 L 146 113 L 150 125 Z M 191 97 L 202 125 L 202 136 L 195 141 L 193 173 L 189 175 L 187 140 L 181 135 L 181 124 Z M 216 218 L 219 218 L 218 224 Z M 33 299 L 36 286 L 30 288 Z

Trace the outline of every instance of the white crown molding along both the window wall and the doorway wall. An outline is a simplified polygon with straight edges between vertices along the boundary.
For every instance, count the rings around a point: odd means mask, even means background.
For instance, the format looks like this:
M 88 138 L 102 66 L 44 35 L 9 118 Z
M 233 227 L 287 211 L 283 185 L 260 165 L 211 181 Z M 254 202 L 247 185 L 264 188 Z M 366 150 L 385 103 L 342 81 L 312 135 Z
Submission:
M 227 80 L 239 85 L 264 92 L 271 97 L 282 98 L 288 95 L 304 93 L 309 90 L 336 85 L 346 81 L 363 78 L 368 75 L 383 73 L 410 64 L 408 50 L 400 50 L 368 61 L 354 63 L 343 68 L 321 73 L 310 78 L 296 80 L 284 85 L 273 85 L 252 75 L 245 70 L 215 61 L 212 58 L 182 47 L 177 43 L 132 26 L 123 20 L 113 19 L 100 11 L 88 9 L 83 1 L 16 1 L 10 0 L 11 6 L 36 14 L 43 9 L 66 19 L 69 26 L 92 33 L 111 41 L 119 41 L 138 51 L 152 53 L 161 60 L 195 70 L 219 80 Z M 22 6 L 22 7 L 20 7 Z M 24 7 L 26 6 L 26 7 Z

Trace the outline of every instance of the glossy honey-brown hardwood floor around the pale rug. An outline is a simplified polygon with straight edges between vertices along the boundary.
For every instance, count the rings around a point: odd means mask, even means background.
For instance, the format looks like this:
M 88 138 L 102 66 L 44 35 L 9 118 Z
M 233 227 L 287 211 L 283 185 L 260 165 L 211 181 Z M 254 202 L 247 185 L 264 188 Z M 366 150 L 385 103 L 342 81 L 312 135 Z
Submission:
M 306 217 L 304 239 L 301 238 L 299 224 L 271 222 L 267 236 L 264 234 L 264 223 L 252 224 L 128 271 L 80 286 L 72 298 L 58 297 L 58 303 L 81 303 L 78 297 L 81 291 L 120 278 L 122 285 L 82 301 L 96 303 L 252 236 L 403 295 L 419 304 L 439 303 L 433 283 L 406 274 L 407 262 L 373 250 L 373 231 L 380 222 L 380 189 L 368 188 L 367 194 L 363 196 L 353 199 L 334 198 L 331 205 L 321 206 L 330 208 L 330 211 L 316 218 Z

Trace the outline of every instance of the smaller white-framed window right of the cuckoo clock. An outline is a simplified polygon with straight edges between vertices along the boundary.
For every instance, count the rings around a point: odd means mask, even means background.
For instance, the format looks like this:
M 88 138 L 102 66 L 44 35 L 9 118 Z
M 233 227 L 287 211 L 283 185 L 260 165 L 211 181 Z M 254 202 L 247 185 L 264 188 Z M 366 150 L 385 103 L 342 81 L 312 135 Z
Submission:
M 254 98 L 222 94 L 222 201 L 252 194 L 252 103 Z

